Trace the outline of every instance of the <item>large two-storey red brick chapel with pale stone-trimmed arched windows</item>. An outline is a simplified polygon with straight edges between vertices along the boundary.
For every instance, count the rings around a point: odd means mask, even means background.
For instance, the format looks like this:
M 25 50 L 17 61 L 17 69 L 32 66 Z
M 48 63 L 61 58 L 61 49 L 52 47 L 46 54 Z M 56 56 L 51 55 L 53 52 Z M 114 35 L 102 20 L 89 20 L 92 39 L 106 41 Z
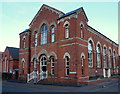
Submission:
M 19 34 L 19 79 L 34 78 L 35 61 L 38 81 L 76 84 L 116 75 L 118 44 L 87 22 L 82 7 L 64 14 L 43 4 L 30 28 Z

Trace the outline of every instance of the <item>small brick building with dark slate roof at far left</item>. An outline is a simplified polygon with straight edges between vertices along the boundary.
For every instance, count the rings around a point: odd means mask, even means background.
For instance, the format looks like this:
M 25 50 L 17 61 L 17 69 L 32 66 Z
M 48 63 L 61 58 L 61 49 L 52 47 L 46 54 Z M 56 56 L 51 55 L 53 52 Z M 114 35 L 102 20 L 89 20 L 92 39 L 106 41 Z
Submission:
M 18 78 L 19 66 L 19 48 L 6 47 L 2 54 L 2 73 L 12 74 Z M 13 77 L 13 78 L 14 78 Z

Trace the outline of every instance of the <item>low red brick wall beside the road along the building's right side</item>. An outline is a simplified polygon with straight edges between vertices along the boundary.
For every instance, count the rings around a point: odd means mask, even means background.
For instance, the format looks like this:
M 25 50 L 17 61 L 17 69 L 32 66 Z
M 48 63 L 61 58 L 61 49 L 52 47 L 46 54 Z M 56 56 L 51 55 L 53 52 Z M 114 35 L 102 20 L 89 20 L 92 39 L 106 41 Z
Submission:
M 107 80 L 110 80 L 112 78 L 106 78 L 106 79 L 98 79 L 98 80 L 86 80 L 86 81 L 79 81 L 79 84 L 87 84 L 87 85 L 91 85 L 91 84 L 96 84 L 96 83 L 100 83 L 100 82 L 105 82 Z

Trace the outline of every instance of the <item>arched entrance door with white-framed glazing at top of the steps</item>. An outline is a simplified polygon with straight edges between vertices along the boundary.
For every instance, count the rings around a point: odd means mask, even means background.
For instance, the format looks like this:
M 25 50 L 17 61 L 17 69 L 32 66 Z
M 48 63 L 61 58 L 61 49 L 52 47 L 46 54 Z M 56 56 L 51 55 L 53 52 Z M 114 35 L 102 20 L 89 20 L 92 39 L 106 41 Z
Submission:
M 43 79 L 47 78 L 47 58 L 42 56 L 40 60 L 40 69 L 41 69 L 41 77 Z

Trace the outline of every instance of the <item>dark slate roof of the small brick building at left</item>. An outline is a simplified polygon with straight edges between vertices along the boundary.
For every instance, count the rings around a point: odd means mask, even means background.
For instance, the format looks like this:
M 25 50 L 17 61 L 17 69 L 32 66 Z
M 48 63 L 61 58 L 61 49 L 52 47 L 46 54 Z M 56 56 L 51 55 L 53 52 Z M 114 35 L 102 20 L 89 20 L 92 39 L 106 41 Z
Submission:
M 13 60 L 19 60 L 19 48 L 7 47 Z

